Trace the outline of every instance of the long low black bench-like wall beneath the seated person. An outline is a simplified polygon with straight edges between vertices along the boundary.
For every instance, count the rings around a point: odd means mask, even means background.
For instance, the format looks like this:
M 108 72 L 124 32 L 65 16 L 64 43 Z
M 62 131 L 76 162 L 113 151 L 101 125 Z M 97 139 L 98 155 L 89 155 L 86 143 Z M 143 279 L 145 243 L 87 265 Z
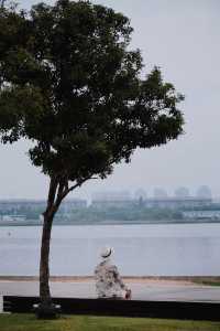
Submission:
M 3 297 L 3 310 L 33 312 L 38 297 Z M 220 321 L 220 302 L 105 300 L 79 298 L 53 298 L 64 314 L 121 316 L 165 319 Z

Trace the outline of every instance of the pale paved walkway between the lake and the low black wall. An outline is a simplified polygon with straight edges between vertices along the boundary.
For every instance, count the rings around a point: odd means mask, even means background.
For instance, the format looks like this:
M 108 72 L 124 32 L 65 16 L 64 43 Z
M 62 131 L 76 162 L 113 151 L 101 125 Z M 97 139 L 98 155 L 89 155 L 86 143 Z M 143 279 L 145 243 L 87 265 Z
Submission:
M 220 302 L 220 287 L 178 284 L 127 282 L 136 300 L 206 301 Z M 54 297 L 96 298 L 94 281 L 52 281 Z M 0 297 L 3 295 L 37 296 L 37 281 L 0 281 Z M 2 309 L 0 299 L 0 310 Z

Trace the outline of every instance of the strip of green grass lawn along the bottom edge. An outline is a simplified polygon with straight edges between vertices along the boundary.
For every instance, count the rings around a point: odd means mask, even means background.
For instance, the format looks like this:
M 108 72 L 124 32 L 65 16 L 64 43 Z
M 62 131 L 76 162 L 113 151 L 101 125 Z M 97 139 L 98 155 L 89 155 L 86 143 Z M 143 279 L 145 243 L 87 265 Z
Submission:
M 220 322 L 72 316 L 36 320 L 33 314 L 0 314 L 0 331 L 174 331 L 220 330 Z

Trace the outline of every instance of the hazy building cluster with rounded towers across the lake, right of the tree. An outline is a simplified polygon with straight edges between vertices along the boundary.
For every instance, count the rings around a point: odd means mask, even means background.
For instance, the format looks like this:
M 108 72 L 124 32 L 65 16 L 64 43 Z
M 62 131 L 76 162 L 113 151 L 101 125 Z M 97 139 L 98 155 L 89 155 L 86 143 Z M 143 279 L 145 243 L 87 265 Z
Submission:
M 211 190 L 206 185 L 200 186 L 195 195 L 190 195 L 184 186 L 175 190 L 172 196 L 164 189 L 155 189 L 153 196 L 147 196 L 145 190 L 140 189 L 133 195 L 129 191 L 97 192 L 91 201 L 96 209 L 136 204 L 146 209 L 178 210 L 187 220 L 220 220 L 219 205 L 213 203 Z

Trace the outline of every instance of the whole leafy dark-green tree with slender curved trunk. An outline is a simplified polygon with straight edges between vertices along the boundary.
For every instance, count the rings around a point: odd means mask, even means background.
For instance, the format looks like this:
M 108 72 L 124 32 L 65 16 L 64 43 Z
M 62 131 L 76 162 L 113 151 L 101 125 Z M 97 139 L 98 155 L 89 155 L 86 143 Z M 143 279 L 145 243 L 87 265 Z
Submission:
M 105 179 L 183 132 L 183 96 L 154 67 L 141 78 L 139 50 L 129 50 L 127 17 L 89 1 L 38 3 L 0 13 L 0 137 L 30 139 L 29 157 L 50 178 L 43 213 L 40 296 L 51 305 L 50 241 L 65 196 Z

